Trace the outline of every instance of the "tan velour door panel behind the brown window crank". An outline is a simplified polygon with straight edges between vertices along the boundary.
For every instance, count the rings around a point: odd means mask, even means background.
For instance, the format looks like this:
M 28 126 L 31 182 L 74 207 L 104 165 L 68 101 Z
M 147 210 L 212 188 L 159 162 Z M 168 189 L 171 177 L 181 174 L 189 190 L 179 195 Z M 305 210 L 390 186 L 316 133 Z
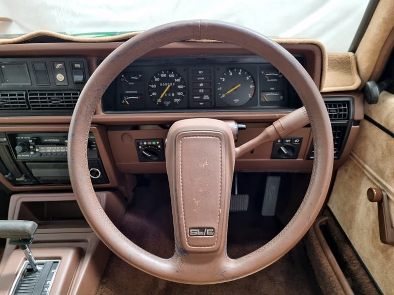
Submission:
M 394 95 L 384 91 L 379 101 L 365 105 L 365 115 L 372 120 L 361 121 L 350 157 L 336 175 L 328 207 L 382 292 L 394 294 L 394 246 L 380 241 L 377 204 L 366 197 L 369 187 L 386 190 L 394 220 L 394 137 L 388 134 L 394 131 Z

